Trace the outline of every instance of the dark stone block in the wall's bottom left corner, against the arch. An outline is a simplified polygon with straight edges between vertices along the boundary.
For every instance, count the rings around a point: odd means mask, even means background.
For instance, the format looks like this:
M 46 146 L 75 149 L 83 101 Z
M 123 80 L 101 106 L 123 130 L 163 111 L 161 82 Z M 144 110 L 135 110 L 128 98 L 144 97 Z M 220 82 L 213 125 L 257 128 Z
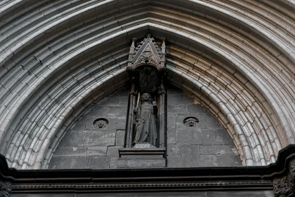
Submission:
M 48 169 L 77 169 L 88 168 L 89 157 L 52 157 Z

